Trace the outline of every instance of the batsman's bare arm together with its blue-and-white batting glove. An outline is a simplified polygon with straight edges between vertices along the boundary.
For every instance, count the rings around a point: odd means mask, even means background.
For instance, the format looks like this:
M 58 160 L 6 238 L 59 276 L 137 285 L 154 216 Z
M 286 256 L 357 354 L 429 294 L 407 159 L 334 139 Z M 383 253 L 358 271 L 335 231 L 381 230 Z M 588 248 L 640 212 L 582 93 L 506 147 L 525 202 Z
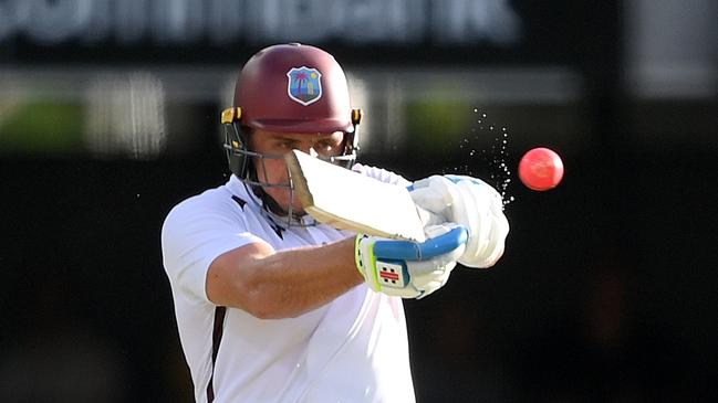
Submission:
M 264 319 L 299 316 L 362 282 L 389 296 L 425 297 L 448 280 L 466 248 L 467 231 L 443 224 L 427 235 L 423 243 L 358 235 L 280 252 L 263 242 L 247 244 L 211 263 L 207 296 Z

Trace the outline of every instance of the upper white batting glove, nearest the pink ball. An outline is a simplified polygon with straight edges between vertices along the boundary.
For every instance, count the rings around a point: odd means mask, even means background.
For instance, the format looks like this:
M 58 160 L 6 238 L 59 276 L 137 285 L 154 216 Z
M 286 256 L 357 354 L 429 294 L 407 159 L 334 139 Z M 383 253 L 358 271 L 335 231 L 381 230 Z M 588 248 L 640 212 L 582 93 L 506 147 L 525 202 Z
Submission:
M 469 231 L 469 241 L 458 262 L 468 267 L 490 267 L 503 255 L 509 222 L 501 195 L 480 179 L 466 176 L 433 176 L 409 187 L 425 225 L 455 222 Z

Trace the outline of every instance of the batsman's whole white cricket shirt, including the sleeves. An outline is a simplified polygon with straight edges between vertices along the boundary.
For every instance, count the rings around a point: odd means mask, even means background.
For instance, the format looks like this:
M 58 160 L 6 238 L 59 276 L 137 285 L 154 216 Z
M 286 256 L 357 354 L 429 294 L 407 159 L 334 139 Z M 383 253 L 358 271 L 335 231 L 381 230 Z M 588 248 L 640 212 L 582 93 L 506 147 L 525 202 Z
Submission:
M 354 170 L 408 184 L 377 168 Z M 326 225 L 281 229 L 233 176 L 169 212 L 163 258 L 197 402 L 208 401 L 210 378 L 217 403 L 415 401 L 402 300 L 364 284 L 296 318 L 258 319 L 227 308 L 212 365 L 216 306 L 205 283 L 216 257 L 258 240 L 280 251 L 348 234 Z

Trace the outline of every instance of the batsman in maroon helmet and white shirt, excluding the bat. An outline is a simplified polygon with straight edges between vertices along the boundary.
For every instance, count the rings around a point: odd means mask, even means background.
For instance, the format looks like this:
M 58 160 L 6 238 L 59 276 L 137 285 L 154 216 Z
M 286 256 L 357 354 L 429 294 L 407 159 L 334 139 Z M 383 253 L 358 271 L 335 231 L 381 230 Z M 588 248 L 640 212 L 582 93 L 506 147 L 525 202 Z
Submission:
M 323 50 L 274 45 L 242 68 L 221 116 L 232 174 L 176 205 L 162 231 L 197 402 L 414 402 L 402 298 L 436 291 L 457 263 L 489 267 L 502 255 L 509 224 L 495 189 L 355 163 L 361 117 Z M 431 212 L 427 240 L 314 221 L 289 180 L 283 156 L 294 149 L 407 187 Z M 396 268 L 391 282 L 379 267 Z

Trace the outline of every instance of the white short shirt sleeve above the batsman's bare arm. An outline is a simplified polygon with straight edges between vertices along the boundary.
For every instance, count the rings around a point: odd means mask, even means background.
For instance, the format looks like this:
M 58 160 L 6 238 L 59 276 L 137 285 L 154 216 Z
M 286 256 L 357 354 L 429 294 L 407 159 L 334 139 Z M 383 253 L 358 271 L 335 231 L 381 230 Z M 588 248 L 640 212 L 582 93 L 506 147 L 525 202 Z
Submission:
M 263 241 L 249 233 L 236 213 L 198 204 L 185 201 L 165 219 L 163 263 L 175 293 L 210 303 L 206 291 L 210 264 L 228 251 Z

